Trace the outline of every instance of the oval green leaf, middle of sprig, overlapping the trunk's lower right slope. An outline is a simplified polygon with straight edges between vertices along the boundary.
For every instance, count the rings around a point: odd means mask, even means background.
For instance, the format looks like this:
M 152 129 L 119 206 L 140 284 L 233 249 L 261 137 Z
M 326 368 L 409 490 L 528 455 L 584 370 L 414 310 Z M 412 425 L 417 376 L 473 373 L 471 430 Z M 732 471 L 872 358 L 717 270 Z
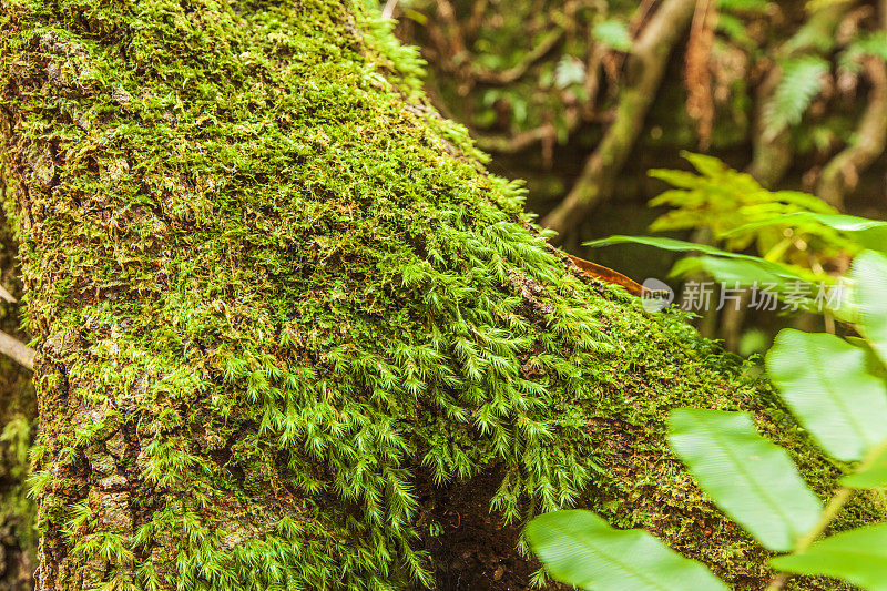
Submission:
M 750 414 L 674 410 L 669 444 L 714 502 L 766 548 L 791 550 L 818 521 L 819 499 Z

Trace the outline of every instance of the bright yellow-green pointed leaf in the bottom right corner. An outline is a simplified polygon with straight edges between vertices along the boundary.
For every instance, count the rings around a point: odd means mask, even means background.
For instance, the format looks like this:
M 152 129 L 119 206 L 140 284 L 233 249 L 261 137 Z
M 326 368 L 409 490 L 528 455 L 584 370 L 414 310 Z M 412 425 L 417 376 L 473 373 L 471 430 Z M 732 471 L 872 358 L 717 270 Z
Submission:
M 887 591 L 887 523 L 836 533 L 803 554 L 769 562 L 787 572 L 835 577 L 869 591 Z

